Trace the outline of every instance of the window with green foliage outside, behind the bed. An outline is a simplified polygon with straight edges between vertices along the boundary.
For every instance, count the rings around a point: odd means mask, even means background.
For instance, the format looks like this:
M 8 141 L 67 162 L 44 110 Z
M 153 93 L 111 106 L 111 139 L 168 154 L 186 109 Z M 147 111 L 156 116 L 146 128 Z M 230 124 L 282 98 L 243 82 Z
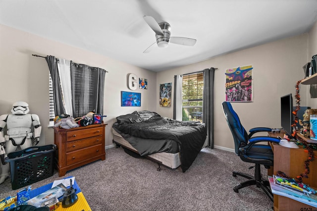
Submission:
M 200 121 L 203 119 L 204 74 L 183 76 L 182 84 L 182 120 Z

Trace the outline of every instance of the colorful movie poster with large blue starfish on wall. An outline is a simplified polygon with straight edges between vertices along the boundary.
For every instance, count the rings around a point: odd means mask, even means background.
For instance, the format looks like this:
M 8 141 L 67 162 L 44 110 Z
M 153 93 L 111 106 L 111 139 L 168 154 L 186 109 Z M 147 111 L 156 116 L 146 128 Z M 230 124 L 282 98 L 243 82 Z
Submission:
M 253 102 L 252 65 L 226 70 L 226 101 Z

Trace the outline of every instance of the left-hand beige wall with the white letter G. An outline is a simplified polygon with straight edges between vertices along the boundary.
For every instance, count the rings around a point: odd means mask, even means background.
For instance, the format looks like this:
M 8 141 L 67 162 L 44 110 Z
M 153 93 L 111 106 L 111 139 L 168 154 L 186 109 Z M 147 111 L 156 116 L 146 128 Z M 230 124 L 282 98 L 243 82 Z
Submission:
M 30 113 L 40 117 L 42 125 L 41 145 L 53 143 L 53 128 L 49 125 L 49 69 L 44 58 L 34 57 L 54 55 L 73 60 L 76 63 L 101 67 L 108 71 L 105 78 L 104 122 L 106 146 L 112 145 L 111 127 L 115 117 L 135 110 L 153 110 L 156 102 L 156 72 L 144 70 L 87 50 L 0 25 L 0 115 L 10 114 L 12 104 L 25 101 Z M 148 79 L 148 89 L 141 92 L 141 107 L 121 107 L 120 91 L 128 91 L 126 78 L 134 73 Z

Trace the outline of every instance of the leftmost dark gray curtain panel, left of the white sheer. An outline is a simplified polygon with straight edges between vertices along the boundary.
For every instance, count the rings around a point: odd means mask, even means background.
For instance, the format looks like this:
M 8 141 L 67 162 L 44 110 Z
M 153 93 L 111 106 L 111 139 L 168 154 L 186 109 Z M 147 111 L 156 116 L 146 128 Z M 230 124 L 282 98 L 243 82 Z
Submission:
M 54 110 L 55 115 L 60 115 L 65 113 L 65 108 L 63 105 L 62 95 L 61 95 L 61 86 L 60 86 L 60 79 L 59 79 L 59 73 L 57 68 L 57 61 L 55 56 L 47 56 L 45 57 L 49 69 L 50 74 L 52 77 L 53 82 L 53 95 L 54 95 Z

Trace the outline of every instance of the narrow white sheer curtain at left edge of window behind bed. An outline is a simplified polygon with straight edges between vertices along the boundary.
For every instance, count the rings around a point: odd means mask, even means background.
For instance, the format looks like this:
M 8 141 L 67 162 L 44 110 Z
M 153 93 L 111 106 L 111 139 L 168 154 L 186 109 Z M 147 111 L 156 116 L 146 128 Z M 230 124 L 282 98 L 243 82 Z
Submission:
M 183 87 L 183 76 L 176 75 L 174 76 L 174 114 L 173 119 L 182 121 L 183 112 L 182 112 L 182 87 Z

